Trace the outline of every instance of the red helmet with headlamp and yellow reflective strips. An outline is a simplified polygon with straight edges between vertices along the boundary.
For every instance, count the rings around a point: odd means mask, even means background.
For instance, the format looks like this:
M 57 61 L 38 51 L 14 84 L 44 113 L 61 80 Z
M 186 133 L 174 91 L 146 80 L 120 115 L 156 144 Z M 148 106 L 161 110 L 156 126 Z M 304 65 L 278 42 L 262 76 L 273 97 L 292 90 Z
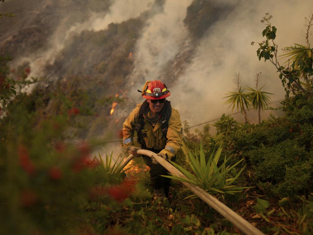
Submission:
M 171 92 L 167 90 L 167 87 L 162 81 L 154 80 L 144 86 L 142 91 L 142 97 L 150 100 L 159 100 L 169 97 Z

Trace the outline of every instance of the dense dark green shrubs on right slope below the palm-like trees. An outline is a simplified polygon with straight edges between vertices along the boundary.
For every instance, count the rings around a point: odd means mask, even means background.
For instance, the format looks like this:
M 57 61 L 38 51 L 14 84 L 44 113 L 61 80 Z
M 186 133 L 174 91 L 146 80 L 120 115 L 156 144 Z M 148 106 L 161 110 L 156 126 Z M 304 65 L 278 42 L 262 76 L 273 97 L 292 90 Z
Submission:
M 253 172 L 250 186 L 278 197 L 293 197 L 312 191 L 311 159 L 313 98 L 297 95 L 282 104 L 285 116 L 264 120 L 260 125 L 236 123 L 225 115 L 214 124 L 226 154 L 245 158 Z M 252 185 L 251 185 L 252 184 Z

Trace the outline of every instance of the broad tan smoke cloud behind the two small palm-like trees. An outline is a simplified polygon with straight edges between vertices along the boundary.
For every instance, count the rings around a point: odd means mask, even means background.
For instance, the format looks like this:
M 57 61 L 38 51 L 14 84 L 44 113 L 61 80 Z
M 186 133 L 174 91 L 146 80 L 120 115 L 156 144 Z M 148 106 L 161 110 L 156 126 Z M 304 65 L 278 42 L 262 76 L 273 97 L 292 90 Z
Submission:
M 272 26 L 278 29 L 275 41 L 279 50 L 293 43 L 306 44 L 301 30 L 305 30 L 304 17 L 309 16 L 312 7 L 312 1 L 240 1 L 203 36 L 185 74 L 169 87 L 169 100 L 181 119 L 193 125 L 231 113 L 223 97 L 237 89 L 234 79 L 239 71 L 241 85 L 253 88 L 256 73 L 262 72 L 260 85 L 265 85 L 264 91 L 274 93 L 270 100 L 283 99 L 285 91 L 274 65 L 259 61 L 257 44 L 250 43 L 264 40 L 261 33 L 265 26 L 260 20 L 269 12 L 273 15 Z

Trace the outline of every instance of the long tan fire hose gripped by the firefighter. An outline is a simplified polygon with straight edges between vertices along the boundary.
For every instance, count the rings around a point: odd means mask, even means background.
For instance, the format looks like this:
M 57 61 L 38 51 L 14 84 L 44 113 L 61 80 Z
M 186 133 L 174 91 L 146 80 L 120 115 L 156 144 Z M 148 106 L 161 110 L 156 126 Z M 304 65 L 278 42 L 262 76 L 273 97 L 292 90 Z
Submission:
M 165 169 L 167 169 L 172 175 L 186 178 L 185 175 L 183 175 L 179 170 L 177 170 L 172 164 L 170 164 L 168 161 L 164 160 L 162 157 L 156 155 L 155 153 L 145 150 L 145 149 L 139 149 L 137 150 L 138 154 L 146 155 L 149 157 L 154 157 L 156 161 L 161 164 Z M 121 164 L 120 169 L 122 170 L 130 161 L 134 158 L 134 155 L 129 155 Z M 244 232 L 247 235 L 264 235 L 263 232 L 261 232 L 259 229 L 254 227 L 252 224 L 250 224 L 248 221 L 246 221 L 243 217 L 241 217 L 239 214 L 234 212 L 232 209 L 228 208 L 228 206 L 224 205 L 222 202 L 218 201 L 218 199 L 208 192 L 204 191 L 202 188 L 200 188 L 197 185 L 190 184 L 187 182 L 181 182 L 183 185 L 185 185 L 188 189 L 190 189 L 195 195 L 197 195 L 199 198 L 201 198 L 204 202 L 206 202 L 209 206 L 211 206 L 214 210 L 216 210 L 218 213 L 220 213 L 223 217 L 228 219 L 230 222 L 232 222 L 236 227 L 238 227 L 242 232 Z

